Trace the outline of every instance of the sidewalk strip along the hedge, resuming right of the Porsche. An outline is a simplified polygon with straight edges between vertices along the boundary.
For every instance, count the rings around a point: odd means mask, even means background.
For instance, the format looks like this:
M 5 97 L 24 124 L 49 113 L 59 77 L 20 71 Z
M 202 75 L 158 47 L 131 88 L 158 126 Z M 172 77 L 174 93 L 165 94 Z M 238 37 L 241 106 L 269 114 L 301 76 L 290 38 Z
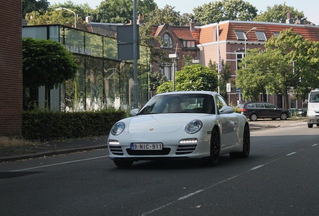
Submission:
M 251 130 L 304 123 L 306 119 L 248 121 Z M 0 148 L 0 162 L 107 148 L 107 136 L 35 142 L 33 145 Z

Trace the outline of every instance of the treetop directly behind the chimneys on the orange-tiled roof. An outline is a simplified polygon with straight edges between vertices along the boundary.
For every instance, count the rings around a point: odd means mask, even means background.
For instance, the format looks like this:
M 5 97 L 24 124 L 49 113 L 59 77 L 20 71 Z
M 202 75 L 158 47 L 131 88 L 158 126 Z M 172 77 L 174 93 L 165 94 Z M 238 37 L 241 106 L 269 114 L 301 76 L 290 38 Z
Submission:
M 272 7 L 267 6 L 266 11 L 258 14 L 254 21 L 266 21 L 266 22 L 282 22 L 285 23 L 287 19 L 287 12 L 290 12 L 291 17 L 298 17 L 302 21 L 306 21 L 303 12 L 299 12 L 293 6 L 288 6 L 284 2 L 283 4 L 274 4 Z

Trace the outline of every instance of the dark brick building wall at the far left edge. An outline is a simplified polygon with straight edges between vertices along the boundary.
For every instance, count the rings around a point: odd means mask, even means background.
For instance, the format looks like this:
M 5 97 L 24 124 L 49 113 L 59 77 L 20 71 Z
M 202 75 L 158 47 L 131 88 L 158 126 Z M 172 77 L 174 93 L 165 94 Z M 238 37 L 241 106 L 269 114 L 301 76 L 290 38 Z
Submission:
M 22 135 L 22 1 L 1 0 L 0 136 Z

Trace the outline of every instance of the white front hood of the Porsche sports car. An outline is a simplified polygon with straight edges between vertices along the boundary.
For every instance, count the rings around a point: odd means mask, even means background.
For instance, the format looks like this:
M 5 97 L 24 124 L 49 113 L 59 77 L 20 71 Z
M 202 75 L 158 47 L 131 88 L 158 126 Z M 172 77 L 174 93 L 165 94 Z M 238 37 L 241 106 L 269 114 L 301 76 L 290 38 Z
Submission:
M 203 113 L 167 113 L 147 114 L 131 117 L 128 124 L 129 133 L 174 132 L 188 122 L 208 114 Z

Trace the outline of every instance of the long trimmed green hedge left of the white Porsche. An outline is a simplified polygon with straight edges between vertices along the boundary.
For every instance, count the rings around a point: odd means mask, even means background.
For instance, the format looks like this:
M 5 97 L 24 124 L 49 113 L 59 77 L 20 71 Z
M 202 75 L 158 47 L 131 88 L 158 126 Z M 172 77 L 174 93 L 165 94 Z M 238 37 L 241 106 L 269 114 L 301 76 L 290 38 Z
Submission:
M 23 111 L 22 135 L 29 140 L 53 140 L 107 135 L 125 117 L 122 110 L 82 112 Z

